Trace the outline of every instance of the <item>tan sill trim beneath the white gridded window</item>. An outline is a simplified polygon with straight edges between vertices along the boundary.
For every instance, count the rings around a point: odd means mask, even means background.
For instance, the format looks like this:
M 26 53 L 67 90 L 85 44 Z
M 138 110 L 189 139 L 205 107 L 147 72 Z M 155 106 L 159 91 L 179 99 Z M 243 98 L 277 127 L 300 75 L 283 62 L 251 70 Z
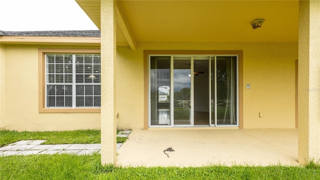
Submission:
M 39 113 L 100 113 L 100 107 L 92 108 L 39 108 Z

